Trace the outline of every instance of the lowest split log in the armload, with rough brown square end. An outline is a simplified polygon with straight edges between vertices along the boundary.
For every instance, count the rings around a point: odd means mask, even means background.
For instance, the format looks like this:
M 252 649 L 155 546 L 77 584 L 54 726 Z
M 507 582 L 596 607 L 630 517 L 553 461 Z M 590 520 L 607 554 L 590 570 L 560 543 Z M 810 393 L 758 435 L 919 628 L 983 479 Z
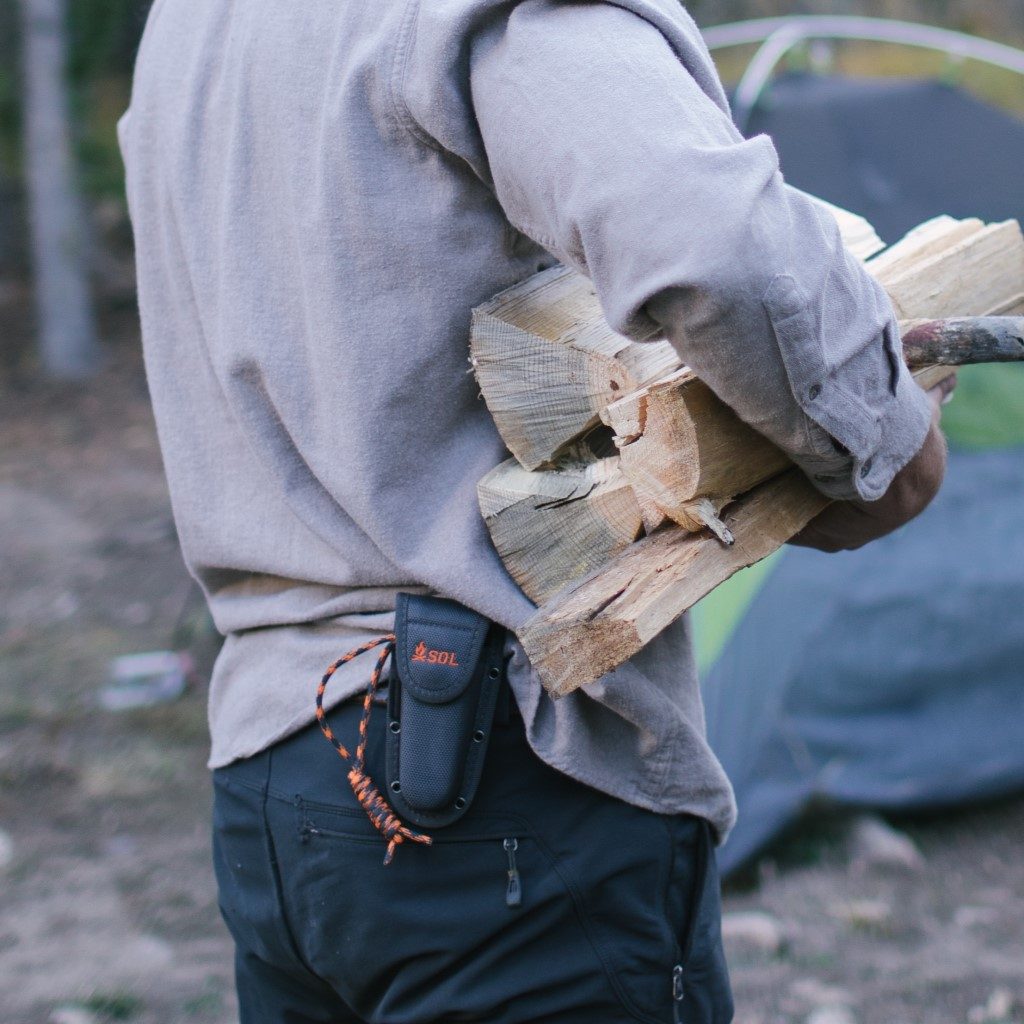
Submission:
M 735 538 L 730 547 L 679 526 L 646 537 L 527 620 L 518 630 L 523 650 L 553 696 L 594 682 L 719 584 L 778 549 L 827 504 L 803 473 L 791 470 L 726 511 Z

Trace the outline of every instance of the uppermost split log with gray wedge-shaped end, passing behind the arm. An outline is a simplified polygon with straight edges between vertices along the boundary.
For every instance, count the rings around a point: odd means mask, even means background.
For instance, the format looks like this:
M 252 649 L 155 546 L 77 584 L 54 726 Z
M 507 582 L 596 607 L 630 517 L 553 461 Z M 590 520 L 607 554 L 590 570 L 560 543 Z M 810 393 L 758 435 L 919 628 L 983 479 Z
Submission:
M 883 248 L 863 217 L 817 202 L 861 259 Z M 593 285 L 564 266 L 473 311 L 470 361 L 498 432 L 527 469 L 554 465 L 609 402 L 681 365 L 668 341 L 635 342 L 612 331 Z

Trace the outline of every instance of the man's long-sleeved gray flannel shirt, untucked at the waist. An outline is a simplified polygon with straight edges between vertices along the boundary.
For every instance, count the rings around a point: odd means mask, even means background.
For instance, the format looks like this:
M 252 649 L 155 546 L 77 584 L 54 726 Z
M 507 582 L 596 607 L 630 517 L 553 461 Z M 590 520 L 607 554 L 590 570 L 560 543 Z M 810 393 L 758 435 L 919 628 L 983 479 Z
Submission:
M 226 636 L 212 766 L 311 722 L 397 590 L 531 613 L 477 509 L 505 452 L 467 342 L 556 258 L 833 497 L 880 497 L 927 432 L 886 296 L 736 132 L 674 0 L 157 0 L 120 139 L 174 513 Z M 728 831 L 685 618 L 557 702 L 510 649 L 541 758 Z

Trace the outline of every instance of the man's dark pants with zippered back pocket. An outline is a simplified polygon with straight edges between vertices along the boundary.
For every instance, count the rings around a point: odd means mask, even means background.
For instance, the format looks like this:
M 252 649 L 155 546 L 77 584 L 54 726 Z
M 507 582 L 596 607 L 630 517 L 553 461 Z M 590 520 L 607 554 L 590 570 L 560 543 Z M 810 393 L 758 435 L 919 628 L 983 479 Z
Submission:
M 353 745 L 358 718 L 357 701 L 331 716 Z M 375 779 L 385 719 L 375 708 Z M 705 821 L 572 781 L 506 712 L 465 817 L 433 846 L 403 844 L 385 867 L 345 773 L 311 726 L 214 774 L 243 1024 L 732 1019 Z

